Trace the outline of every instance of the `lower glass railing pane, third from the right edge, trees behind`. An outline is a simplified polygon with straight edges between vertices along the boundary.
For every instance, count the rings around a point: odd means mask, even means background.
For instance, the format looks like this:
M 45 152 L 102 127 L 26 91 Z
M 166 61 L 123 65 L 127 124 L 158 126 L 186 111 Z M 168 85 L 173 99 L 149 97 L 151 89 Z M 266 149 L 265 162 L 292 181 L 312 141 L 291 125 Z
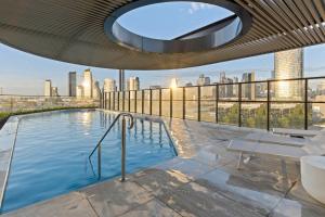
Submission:
M 242 126 L 268 128 L 268 103 L 242 103 Z

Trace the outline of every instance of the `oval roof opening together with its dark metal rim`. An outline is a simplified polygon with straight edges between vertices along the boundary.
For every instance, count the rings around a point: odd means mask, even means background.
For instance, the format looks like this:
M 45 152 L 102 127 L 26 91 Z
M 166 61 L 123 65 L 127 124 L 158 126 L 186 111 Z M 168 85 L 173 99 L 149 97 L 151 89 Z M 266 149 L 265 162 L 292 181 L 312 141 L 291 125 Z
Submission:
M 116 10 L 104 28 L 110 40 L 132 50 L 185 53 L 225 46 L 250 23 L 243 8 L 226 0 L 139 0 Z

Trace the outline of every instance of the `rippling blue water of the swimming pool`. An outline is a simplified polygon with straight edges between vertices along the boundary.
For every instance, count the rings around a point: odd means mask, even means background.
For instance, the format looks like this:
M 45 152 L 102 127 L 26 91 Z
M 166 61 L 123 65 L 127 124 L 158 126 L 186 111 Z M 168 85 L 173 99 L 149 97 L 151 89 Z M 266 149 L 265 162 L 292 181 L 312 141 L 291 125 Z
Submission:
M 100 111 L 52 112 L 23 117 L 2 212 L 120 176 L 120 125 L 102 143 L 102 179 L 98 155 L 88 161 L 115 115 Z M 176 156 L 162 124 L 135 119 L 127 132 L 127 173 Z

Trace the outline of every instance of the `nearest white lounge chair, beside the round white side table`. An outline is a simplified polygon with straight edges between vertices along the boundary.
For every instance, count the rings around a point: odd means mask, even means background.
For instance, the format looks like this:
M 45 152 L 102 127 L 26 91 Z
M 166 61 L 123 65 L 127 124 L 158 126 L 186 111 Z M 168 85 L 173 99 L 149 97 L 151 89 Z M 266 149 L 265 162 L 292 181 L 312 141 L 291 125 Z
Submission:
M 325 143 L 307 144 L 302 148 L 282 144 L 256 142 L 247 140 L 231 140 L 229 151 L 239 152 L 237 168 L 240 167 L 243 154 L 268 155 L 281 159 L 300 162 L 308 155 L 325 155 Z

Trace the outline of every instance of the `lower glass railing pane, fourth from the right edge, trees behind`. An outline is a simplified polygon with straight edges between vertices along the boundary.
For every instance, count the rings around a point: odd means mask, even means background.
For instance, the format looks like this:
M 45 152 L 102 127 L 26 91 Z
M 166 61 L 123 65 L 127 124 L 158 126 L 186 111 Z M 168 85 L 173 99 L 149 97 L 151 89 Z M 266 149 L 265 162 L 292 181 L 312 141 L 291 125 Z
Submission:
M 219 102 L 218 122 L 226 125 L 238 125 L 238 108 L 237 102 Z

